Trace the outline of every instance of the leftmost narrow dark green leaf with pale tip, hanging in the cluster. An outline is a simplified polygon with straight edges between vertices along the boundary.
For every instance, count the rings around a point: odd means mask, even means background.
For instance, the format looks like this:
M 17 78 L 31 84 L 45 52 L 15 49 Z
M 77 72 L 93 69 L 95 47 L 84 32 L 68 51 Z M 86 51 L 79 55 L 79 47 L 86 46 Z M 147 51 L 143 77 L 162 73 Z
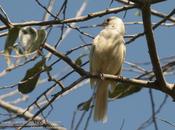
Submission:
M 13 27 L 10 28 L 8 31 L 8 35 L 5 41 L 5 46 L 4 46 L 4 53 L 6 55 L 6 62 L 10 66 L 11 61 L 10 61 L 10 54 L 13 50 L 13 45 L 15 44 L 18 34 L 19 34 L 20 27 Z

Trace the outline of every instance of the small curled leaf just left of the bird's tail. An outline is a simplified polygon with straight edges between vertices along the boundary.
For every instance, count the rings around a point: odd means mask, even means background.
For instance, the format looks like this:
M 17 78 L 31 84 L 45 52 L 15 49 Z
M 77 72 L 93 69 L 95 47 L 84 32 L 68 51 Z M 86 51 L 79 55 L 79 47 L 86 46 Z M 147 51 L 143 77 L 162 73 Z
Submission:
M 88 101 L 82 102 L 77 106 L 77 109 L 79 111 L 88 111 L 89 108 L 91 107 L 91 101 L 92 98 L 90 98 Z

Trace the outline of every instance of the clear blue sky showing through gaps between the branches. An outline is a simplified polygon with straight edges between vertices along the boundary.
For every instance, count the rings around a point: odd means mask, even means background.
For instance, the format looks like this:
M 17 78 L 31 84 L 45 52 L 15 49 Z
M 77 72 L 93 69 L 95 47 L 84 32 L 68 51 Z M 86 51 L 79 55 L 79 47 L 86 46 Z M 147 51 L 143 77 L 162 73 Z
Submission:
M 80 6 L 82 5 L 83 0 L 69 0 L 68 7 L 67 7 L 67 16 L 66 18 L 74 17 Z M 42 1 L 43 4 L 47 5 L 47 1 Z M 54 12 L 60 7 L 61 2 L 57 1 L 54 6 Z M 90 12 L 96 12 L 100 10 L 104 10 L 109 7 L 110 0 L 88 0 L 87 8 L 83 12 L 82 15 L 87 15 Z M 32 21 L 32 20 L 42 20 L 43 16 L 43 9 L 36 4 L 34 0 L 1 0 L 0 5 L 8 14 L 10 20 L 12 22 L 25 22 L 25 21 Z M 163 2 L 157 5 L 154 5 L 153 8 L 164 13 L 170 12 L 175 5 L 175 1 L 169 0 L 167 2 Z M 119 3 L 114 3 L 112 7 L 120 6 Z M 133 9 L 132 11 L 128 11 L 126 17 L 123 19 L 124 22 L 131 22 L 131 21 L 141 21 L 140 16 L 136 16 L 135 13 L 137 9 Z M 119 17 L 123 17 L 124 12 L 120 14 L 111 14 L 116 15 Z M 101 23 L 105 18 L 111 16 L 104 16 L 101 18 L 95 18 L 83 23 L 78 23 L 78 25 L 93 25 L 97 23 Z M 157 17 L 152 17 L 154 22 L 159 21 L 160 19 Z M 54 44 L 57 42 L 58 36 L 60 35 L 59 29 L 56 28 L 53 30 L 52 34 L 48 38 L 48 43 Z M 142 25 L 126 25 L 126 34 L 131 35 L 137 32 L 142 32 L 143 27 Z M 95 36 L 100 31 L 99 28 L 93 29 L 84 29 L 85 32 Z M 174 34 L 175 28 L 174 27 L 160 27 L 159 29 L 155 30 L 154 36 L 157 45 L 157 50 L 160 58 L 174 56 Z M 84 38 L 87 43 L 90 43 L 92 40 L 89 38 Z M 126 39 L 127 40 L 127 39 Z M 3 49 L 4 46 L 4 38 L 0 38 L 0 48 Z M 60 47 L 58 48 L 59 51 L 65 52 L 73 47 L 81 45 L 82 41 L 80 40 L 79 33 L 77 31 L 71 31 L 71 33 L 66 37 L 66 39 L 61 43 Z M 76 59 L 80 54 L 89 53 L 88 49 L 82 49 L 77 53 L 73 53 L 70 55 L 72 59 Z M 54 60 L 54 59 L 53 59 Z M 134 63 L 143 63 L 143 62 L 150 62 L 149 53 L 147 49 L 147 44 L 145 37 L 141 37 L 136 41 L 132 42 L 131 44 L 127 45 L 127 54 L 126 60 Z M 0 71 L 5 68 L 4 65 L 4 57 L 0 56 Z M 31 67 L 33 64 L 25 65 L 24 68 L 20 68 L 18 70 L 14 70 L 11 73 L 7 74 L 6 76 L 0 79 L 1 85 L 9 85 L 15 82 L 18 82 L 20 79 L 23 78 L 25 71 Z M 57 66 L 54 66 L 52 70 L 52 74 L 57 74 L 59 76 L 64 73 L 66 64 L 64 62 L 59 63 Z M 125 65 L 127 67 L 127 65 Z M 144 66 L 146 69 L 152 69 L 152 66 Z M 88 65 L 85 67 L 88 68 Z M 66 69 L 66 72 L 70 70 Z M 126 77 L 134 77 L 137 74 L 130 73 L 127 71 L 123 72 L 123 75 Z M 45 76 L 44 74 L 42 75 Z M 69 84 L 77 75 L 74 74 L 70 78 L 64 80 L 65 84 Z M 168 76 L 166 79 L 169 82 L 174 82 L 174 75 Z M 39 85 L 34 92 L 29 94 L 30 98 L 28 103 L 21 104 L 22 107 L 27 106 L 30 104 L 32 100 L 36 99 L 36 96 L 41 93 L 42 90 L 45 90 L 49 87 L 51 83 L 45 83 Z M 15 88 L 13 88 L 15 89 Z M 8 92 L 9 90 L 4 90 L 1 93 Z M 159 91 L 153 91 L 155 105 L 156 108 L 160 105 L 162 100 L 164 99 L 164 94 Z M 83 101 L 86 101 L 92 95 L 92 90 L 89 84 L 85 84 L 79 89 L 73 91 L 72 93 L 60 98 L 59 100 L 55 101 L 53 104 L 52 113 L 49 115 L 48 119 L 53 122 L 60 122 L 66 128 L 70 128 L 70 124 L 72 121 L 73 112 L 76 110 L 78 104 Z M 174 119 L 174 108 L 175 104 L 172 102 L 172 99 L 169 97 L 167 100 L 166 105 L 163 107 L 160 114 L 157 115 L 158 119 L 164 119 L 170 122 L 175 122 Z M 80 118 L 81 112 L 77 113 L 77 120 Z M 151 103 L 150 97 L 148 93 L 148 89 L 143 89 L 141 92 L 131 95 L 129 97 L 116 100 L 109 103 L 108 107 L 108 122 L 105 124 L 96 123 L 92 119 L 90 120 L 90 124 L 88 130 L 119 130 L 122 121 L 124 121 L 123 130 L 135 130 L 138 128 L 145 120 L 147 120 L 151 115 Z M 86 115 L 86 117 L 88 114 Z M 85 122 L 85 120 L 84 120 Z M 159 130 L 173 130 L 174 127 L 158 120 Z M 152 130 L 154 127 L 151 125 L 148 127 L 148 130 Z M 80 126 L 80 129 L 83 129 L 83 125 Z

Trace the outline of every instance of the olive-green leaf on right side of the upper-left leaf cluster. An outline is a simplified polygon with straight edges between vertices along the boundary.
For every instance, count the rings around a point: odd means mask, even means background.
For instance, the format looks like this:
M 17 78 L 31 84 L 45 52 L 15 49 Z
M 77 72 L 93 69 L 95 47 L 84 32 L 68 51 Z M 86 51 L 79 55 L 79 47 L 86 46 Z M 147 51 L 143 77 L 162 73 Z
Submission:
M 46 39 L 46 31 L 44 29 L 37 31 L 38 38 L 31 44 L 28 53 L 34 52 L 40 48 L 40 46 L 44 43 Z

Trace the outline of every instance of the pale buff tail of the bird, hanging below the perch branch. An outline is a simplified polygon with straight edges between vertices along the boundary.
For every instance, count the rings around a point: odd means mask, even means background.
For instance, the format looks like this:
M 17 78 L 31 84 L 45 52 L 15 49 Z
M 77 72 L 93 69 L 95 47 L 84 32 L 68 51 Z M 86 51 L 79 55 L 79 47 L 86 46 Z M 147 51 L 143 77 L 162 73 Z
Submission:
M 96 81 L 94 120 L 107 121 L 108 81 Z

